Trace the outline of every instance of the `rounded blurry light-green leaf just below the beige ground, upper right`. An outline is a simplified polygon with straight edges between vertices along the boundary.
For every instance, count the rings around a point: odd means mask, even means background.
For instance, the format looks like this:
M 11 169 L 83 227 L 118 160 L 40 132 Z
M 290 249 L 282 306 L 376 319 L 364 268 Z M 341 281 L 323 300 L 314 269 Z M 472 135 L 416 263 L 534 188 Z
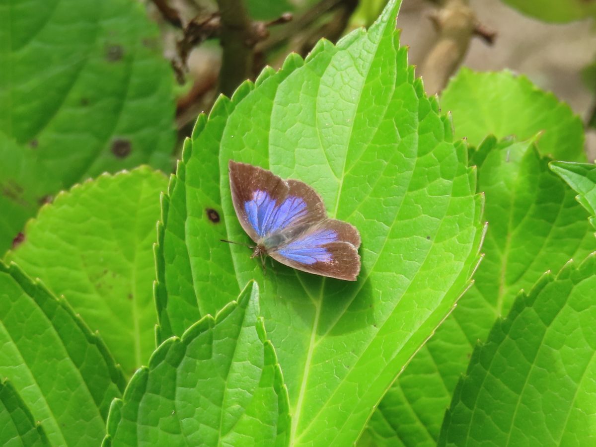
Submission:
M 443 91 L 441 108 L 453 114 L 455 136 L 467 138 L 474 146 L 490 134 L 515 135 L 521 141 L 541 132 L 541 154 L 555 160 L 586 160 L 579 116 L 525 76 L 463 67 Z

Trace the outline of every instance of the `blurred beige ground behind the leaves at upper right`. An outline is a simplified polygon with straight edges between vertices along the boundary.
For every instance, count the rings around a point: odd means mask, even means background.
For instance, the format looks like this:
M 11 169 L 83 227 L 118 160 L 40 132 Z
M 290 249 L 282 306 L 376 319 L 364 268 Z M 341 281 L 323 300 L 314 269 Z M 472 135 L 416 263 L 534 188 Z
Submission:
M 498 0 L 470 0 L 480 23 L 497 35 L 495 44 L 473 39 L 464 64 L 474 70 L 511 69 L 552 91 L 585 122 L 596 101 L 580 78 L 596 57 L 596 26 L 591 20 L 550 24 L 522 15 Z M 402 45 L 409 61 L 420 66 L 436 32 L 428 18 L 433 5 L 426 0 L 403 0 L 398 17 Z M 596 158 L 596 131 L 586 133 L 588 159 Z

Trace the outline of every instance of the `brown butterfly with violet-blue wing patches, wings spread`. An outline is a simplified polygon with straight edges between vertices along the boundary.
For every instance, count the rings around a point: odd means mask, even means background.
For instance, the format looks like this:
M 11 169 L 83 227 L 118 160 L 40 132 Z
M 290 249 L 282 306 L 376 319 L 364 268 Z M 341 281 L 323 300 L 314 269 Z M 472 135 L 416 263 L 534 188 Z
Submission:
M 313 188 L 252 164 L 230 160 L 228 166 L 236 215 L 256 243 L 251 257 L 269 255 L 304 272 L 356 281 L 360 234 L 347 222 L 329 219 Z

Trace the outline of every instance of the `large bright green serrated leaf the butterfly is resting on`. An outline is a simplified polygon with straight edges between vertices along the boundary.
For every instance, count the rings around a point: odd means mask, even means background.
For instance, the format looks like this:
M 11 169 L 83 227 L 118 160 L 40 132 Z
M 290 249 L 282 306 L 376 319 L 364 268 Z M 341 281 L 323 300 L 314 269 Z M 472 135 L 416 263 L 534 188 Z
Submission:
M 291 55 L 198 120 L 163 201 L 161 337 L 256 278 L 293 414 L 291 443 L 349 445 L 389 384 L 451 310 L 476 266 L 482 200 L 395 33 L 398 2 L 368 32 Z M 219 154 L 219 162 L 216 156 Z M 229 195 L 228 160 L 313 185 L 362 236 L 359 281 L 268 261 L 263 275 Z M 212 221 L 209 210 L 220 218 Z M 219 293 L 216 293 L 216 287 Z

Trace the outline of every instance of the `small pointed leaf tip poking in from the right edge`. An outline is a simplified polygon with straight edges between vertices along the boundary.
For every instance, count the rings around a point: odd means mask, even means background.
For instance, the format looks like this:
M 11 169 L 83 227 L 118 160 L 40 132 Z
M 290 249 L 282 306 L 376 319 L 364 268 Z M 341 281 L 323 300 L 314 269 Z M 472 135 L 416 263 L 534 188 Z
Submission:
M 550 166 L 578 193 L 576 199 L 588 210 L 596 227 L 596 164 L 552 162 Z

